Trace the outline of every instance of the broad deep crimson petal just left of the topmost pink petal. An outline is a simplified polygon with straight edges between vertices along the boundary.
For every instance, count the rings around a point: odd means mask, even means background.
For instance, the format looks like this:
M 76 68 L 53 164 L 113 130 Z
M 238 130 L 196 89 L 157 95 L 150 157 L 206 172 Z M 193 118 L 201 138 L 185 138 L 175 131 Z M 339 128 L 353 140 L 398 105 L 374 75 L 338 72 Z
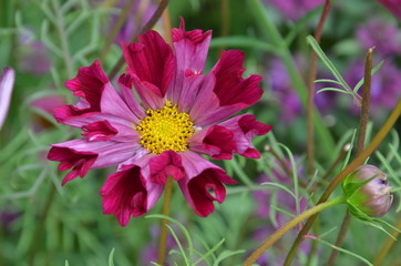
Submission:
M 141 81 L 155 85 L 164 98 L 174 75 L 173 50 L 156 31 L 148 31 L 138 41 L 128 47 L 122 43 L 128 70 Z

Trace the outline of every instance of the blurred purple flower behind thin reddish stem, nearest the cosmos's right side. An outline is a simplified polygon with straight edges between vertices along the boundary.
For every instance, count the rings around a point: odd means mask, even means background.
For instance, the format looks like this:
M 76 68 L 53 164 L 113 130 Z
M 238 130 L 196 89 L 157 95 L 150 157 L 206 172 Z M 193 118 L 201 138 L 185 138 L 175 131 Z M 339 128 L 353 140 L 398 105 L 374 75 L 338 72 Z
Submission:
M 305 69 L 306 61 L 296 57 L 296 63 L 298 69 Z M 298 93 L 292 86 L 291 80 L 288 75 L 287 69 L 279 59 L 271 60 L 269 68 L 270 88 L 274 99 L 277 99 L 280 106 L 280 119 L 285 123 L 292 122 L 297 116 L 301 115 L 302 104 L 298 96 Z M 318 75 L 321 75 L 318 73 Z M 319 79 L 322 79 L 321 76 Z M 332 84 L 316 83 L 315 91 L 318 91 L 325 86 L 332 86 Z M 322 113 L 330 110 L 336 103 L 336 93 L 322 92 L 315 94 L 315 104 Z

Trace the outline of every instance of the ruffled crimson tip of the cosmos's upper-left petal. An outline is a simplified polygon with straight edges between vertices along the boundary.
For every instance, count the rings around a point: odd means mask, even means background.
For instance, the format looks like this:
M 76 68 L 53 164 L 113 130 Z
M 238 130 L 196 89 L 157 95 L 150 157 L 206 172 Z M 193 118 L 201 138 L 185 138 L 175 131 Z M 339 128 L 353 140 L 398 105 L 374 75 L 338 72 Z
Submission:
M 65 82 L 80 101 L 75 105 L 62 105 L 54 110 L 54 117 L 59 123 L 63 123 L 76 115 L 101 111 L 101 96 L 104 85 L 109 83 L 109 78 L 102 70 L 99 61 L 94 61 L 90 66 L 80 68 L 78 75 Z

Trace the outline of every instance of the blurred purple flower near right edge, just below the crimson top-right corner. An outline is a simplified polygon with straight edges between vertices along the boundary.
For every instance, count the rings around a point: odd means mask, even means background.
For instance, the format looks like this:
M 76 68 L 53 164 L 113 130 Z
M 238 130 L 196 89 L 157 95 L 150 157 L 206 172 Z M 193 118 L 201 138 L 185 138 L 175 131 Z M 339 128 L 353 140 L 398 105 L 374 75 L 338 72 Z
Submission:
M 364 49 L 376 47 L 374 51 L 383 55 L 399 53 L 401 50 L 394 23 L 371 20 L 358 28 L 357 35 Z

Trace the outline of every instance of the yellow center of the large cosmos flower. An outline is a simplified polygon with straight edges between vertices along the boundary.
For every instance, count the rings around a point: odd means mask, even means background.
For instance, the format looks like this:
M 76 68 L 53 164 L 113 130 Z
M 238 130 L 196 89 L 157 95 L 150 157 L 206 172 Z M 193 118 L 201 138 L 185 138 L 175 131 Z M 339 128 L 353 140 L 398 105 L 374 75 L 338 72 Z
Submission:
M 178 112 L 177 105 L 166 101 L 160 110 L 147 110 L 147 116 L 135 127 L 140 132 L 140 144 L 152 153 L 172 150 L 188 150 L 187 139 L 193 135 L 194 123 L 187 113 Z

